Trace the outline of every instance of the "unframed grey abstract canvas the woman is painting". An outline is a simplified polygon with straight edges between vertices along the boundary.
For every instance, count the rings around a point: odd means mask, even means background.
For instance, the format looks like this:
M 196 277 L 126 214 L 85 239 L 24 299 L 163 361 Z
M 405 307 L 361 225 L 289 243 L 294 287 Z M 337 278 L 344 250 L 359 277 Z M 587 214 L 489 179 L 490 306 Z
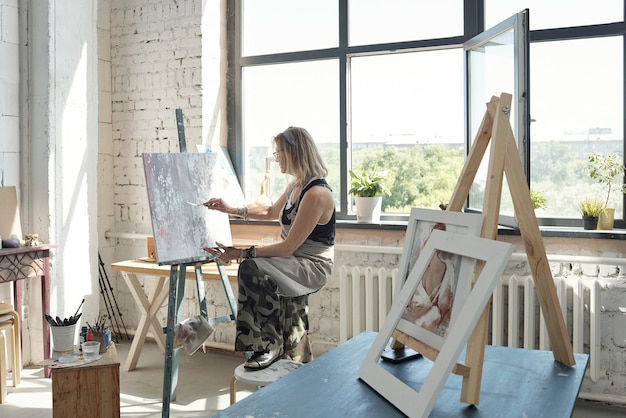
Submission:
M 159 264 L 206 261 L 210 256 L 203 247 L 216 241 L 231 245 L 228 215 L 201 205 L 227 192 L 218 158 L 217 153 L 143 154 Z

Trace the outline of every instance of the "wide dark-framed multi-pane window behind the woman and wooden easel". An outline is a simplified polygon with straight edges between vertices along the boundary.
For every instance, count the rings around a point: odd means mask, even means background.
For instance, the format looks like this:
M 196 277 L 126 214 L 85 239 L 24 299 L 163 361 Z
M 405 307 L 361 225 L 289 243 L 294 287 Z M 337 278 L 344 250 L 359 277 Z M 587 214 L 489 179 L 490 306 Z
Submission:
M 531 189 L 547 197 L 540 223 L 579 223 L 580 185 L 599 193 L 584 174 L 587 153 L 624 154 L 623 0 L 228 4 L 229 150 L 249 201 L 264 178 L 270 198 L 282 191 L 271 138 L 300 125 L 329 165 L 340 219 L 354 219 L 350 169 L 390 173 L 383 219 L 446 202 L 475 135 L 465 128 L 463 43 L 526 8 L 530 131 L 520 151 Z M 612 200 L 626 226 L 624 196 Z

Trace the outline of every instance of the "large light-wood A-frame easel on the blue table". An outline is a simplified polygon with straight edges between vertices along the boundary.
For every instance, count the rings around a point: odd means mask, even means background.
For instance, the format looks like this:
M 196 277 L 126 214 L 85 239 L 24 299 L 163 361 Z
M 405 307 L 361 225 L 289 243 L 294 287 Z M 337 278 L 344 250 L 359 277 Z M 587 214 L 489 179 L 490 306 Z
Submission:
M 573 366 L 576 364 L 576 361 L 569 341 L 565 320 L 559 308 L 552 272 L 548 265 L 539 225 L 530 200 L 530 190 L 525 181 L 524 170 L 517 151 L 513 130 L 511 129 L 509 121 L 510 109 L 511 95 L 507 93 L 502 93 L 500 98 L 494 96 L 487 103 L 487 111 L 483 117 L 480 130 L 472 144 L 468 159 L 446 210 L 460 212 L 463 209 L 464 203 L 469 196 L 470 187 L 491 140 L 487 183 L 483 202 L 481 237 L 495 240 L 498 235 L 502 183 L 506 173 L 515 216 L 526 249 L 539 303 L 543 310 L 554 358 L 566 366 Z M 481 266 L 478 265 L 477 272 L 480 269 Z M 477 274 L 475 277 L 477 277 Z M 489 307 L 484 310 L 467 343 L 465 362 L 458 362 L 452 371 L 454 374 L 463 376 L 461 402 L 474 405 L 479 403 L 488 327 Z M 419 351 L 424 357 L 433 361 L 438 355 L 438 351 L 435 348 L 416 340 L 398 329 L 394 331 L 393 338 L 396 341 L 394 344 L 404 344 Z

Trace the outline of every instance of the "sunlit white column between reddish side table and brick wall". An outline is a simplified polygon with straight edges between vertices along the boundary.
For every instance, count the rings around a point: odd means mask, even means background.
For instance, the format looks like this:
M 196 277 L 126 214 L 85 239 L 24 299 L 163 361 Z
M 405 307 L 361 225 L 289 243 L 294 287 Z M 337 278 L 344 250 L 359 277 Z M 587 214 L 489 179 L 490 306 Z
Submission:
M 28 102 L 30 146 L 22 200 L 23 229 L 57 246 L 50 293 L 53 316 L 83 321 L 99 312 L 97 237 L 98 79 L 96 2 L 29 2 Z M 41 356 L 38 286 L 29 326 L 33 361 Z

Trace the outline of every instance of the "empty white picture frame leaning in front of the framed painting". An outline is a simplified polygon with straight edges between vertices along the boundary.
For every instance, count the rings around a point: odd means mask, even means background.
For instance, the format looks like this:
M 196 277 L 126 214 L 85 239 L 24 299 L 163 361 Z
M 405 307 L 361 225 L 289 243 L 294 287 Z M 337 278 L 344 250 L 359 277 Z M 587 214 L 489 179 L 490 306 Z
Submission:
M 402 314 L 437 251 L 457 254 L 463 258 L 472 259 L 473 263 L 480 260 L 484 264 L 467 297 L 464 300 L 458 298 L 455 300 L 455 303 L 462 304 L 459 315 L 450 327 L 426 379 L 419 390 L 416 390 L 382 367 L 380 357 L 392 333 L 402 321 Z M 512 252 L 513 245 L 509 243 L 433 231 L 415 266 L 411 269 L 405 285 L 394 300 L 387 319 L 359 368 L 358 376 L 407 416 L 427 417 L 459 360 Z M 472 278 L 470 276 L 461 280 L 471 282 Z M 408 335 L 421 340 L 418 334 L 412 335 L 409 332 Z M 417 361 L 429 362 L 430 360 Z

